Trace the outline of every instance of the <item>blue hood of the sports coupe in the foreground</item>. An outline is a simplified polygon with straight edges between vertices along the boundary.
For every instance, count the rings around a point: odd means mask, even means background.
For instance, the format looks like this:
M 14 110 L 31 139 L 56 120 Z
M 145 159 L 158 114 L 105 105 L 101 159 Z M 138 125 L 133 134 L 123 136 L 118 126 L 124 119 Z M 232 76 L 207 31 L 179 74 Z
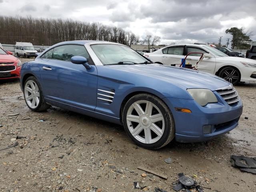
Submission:
M 111 65 L 109 67 L 146 76 L 148 80 L 151 78 L 165 80 L 186 89 L 207 88 L 214 91 L 230 84 L 212 74 L 160 64 Z

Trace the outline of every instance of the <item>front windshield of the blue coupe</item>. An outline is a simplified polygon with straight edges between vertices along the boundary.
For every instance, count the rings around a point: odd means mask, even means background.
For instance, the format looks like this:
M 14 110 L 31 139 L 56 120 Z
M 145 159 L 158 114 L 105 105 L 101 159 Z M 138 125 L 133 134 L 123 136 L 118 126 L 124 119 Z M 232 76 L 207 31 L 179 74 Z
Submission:
M 132 48 L 116 44 L 95 44 L 91 45 L 92 50 L 98 56 L 102 64 L 139 64 L 148 62 L 141 54 Z

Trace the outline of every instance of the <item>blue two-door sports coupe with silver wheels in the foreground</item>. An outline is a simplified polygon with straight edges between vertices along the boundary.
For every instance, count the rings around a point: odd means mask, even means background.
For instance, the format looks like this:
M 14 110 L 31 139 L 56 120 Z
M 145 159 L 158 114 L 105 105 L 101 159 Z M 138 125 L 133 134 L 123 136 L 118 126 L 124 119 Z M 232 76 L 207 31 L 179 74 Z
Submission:
M 122 124 L 139 146 L 176 138 L 200 142 L 234 129 L 242 101 L 229 82 L 185 68 L 154 64 L 128 46 L 69 41 L 24 63 L 20 87 L 28 108 L 50 105 Z

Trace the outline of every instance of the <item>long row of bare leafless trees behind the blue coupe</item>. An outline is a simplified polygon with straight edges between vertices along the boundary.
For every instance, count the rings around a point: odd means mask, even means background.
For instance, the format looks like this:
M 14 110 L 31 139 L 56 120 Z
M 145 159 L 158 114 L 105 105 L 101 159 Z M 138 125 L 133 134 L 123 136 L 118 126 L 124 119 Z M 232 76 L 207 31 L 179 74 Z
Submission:
M 116 26 L 99 22 L 0 16 L 0 42 L 15 44 L 31 42 L 33 45 L 50 46 L 62 41 L 99 40 L 130 46 L 139 44 L 140 36 Z

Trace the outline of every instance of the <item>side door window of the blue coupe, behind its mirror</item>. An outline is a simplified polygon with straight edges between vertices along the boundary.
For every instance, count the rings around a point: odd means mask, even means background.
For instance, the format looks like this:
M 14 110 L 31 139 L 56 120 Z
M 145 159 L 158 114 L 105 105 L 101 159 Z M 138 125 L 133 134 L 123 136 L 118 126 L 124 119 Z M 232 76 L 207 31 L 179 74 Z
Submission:
M 82 45 L 62 45 L 55 47 L 52 59 L 70 61 L 72 56 L 82 56 L 89 59 L 89 54 Z

